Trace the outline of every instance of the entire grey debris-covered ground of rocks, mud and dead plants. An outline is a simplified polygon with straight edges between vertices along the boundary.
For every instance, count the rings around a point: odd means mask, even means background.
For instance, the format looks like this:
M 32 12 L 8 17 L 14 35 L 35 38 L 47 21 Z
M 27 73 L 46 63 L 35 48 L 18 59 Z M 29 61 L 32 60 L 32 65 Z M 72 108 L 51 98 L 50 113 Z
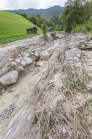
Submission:
M 91 139 L 91 42 L 55 33 L 1 46 L 1 139 Z

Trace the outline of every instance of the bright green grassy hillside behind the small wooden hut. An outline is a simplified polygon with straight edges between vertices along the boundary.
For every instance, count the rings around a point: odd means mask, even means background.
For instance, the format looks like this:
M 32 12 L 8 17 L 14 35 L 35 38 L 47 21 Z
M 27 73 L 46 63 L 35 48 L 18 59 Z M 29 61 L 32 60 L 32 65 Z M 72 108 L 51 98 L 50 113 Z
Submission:
M 26 38 L 26 28 L 33 26 L 35 25 L 21 15 L 0 11 L 0 44 Z M 37 35 L 39 34 L 42 34 L 40 28 L 37 30 Z

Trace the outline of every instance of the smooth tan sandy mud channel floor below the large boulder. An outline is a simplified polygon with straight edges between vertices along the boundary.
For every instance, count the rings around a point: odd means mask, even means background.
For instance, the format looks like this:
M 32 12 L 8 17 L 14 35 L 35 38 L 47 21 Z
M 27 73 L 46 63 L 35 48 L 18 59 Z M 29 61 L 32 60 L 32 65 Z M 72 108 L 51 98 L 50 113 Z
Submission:
M 42 75 L 41 71 L 42 67 L 35 68 L 35 70 L 29 75 L 20 79 L 16 84 L 11 85 L 0 97 L 0 113 L 7 109 L 13 102 L 16 103 L 13 113 L 9 118 L 0 123 L 0 135 L 7 129 L 7 126 L 13 116 L 27 103 L 36 82 Z

